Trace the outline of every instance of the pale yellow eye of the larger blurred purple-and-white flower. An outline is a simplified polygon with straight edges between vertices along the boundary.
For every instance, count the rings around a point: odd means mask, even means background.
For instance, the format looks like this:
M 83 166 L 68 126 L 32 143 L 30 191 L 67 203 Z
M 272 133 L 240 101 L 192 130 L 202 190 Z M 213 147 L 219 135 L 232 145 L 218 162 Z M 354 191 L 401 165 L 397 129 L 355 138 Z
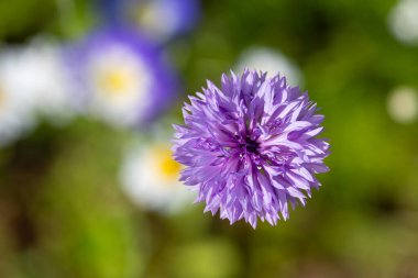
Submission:
M 99 87 L 110 96 L 125 94 L 134 82 L 133 77 L 123 68 L 103 70 L 98 78 Z

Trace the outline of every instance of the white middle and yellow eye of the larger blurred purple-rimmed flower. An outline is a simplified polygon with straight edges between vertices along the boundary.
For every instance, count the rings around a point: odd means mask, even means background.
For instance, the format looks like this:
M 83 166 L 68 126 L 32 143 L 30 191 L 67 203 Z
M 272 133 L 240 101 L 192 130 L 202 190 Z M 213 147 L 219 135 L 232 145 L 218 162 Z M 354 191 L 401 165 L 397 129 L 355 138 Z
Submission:
M 92 111 L 116 125 L 133 125 L 148 103 L 154 82 L 145 62 L 130 47 L 114 44 L 91 56 L 87 75 Z

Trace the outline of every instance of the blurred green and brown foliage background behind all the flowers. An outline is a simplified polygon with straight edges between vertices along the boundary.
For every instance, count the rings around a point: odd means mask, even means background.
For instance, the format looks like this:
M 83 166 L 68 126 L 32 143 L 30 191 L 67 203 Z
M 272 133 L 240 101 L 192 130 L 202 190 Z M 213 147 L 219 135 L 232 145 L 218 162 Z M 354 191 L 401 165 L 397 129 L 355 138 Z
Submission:
M 0 277 L 418 277 L 418 129 L 386 112 L 394 87 L 418 88 L 418 47 L 388 32 L 395 3 L 206 0 L 196 30 L 167 46 L 183 98 L 206 79 L 219 84 L 249 46 L 280 49 L 300 66 L 327 116 L 331 171 L 289 221 L 253 231 L 202 205 L 141 211 L 117 179 L 134 134 L 86 119 L 45 123 L 0 151 Z M 0 1 L 0 40 L 79 36 L 98 24 L 95 7 Z

